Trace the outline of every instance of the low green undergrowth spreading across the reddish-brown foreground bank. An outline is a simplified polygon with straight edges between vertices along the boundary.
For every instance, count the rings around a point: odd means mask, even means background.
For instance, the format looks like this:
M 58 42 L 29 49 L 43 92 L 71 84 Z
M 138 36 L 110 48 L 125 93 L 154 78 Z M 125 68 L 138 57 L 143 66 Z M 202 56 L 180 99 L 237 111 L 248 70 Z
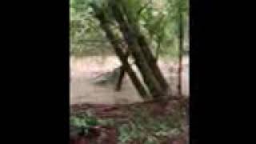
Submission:
M 71 116 L 71 126 L 88 130 L 90 126 L 111 126 L 118 130 L 118 143 L 157 144 L 163 139 L 173 138 L 184 132 L 184 114 L 167 114 L 154 117 L 146 109 L 134 109 L 127 122 L 118 118 L 96 118 L 92 114 Z M 86 131 L 87 132 L 87 131 Z

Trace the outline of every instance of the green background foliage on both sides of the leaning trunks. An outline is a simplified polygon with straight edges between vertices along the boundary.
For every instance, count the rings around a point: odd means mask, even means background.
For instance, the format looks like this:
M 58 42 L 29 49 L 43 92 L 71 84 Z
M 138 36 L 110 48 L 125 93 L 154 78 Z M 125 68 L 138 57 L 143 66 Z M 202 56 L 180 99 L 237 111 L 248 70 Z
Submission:
M 107 0 L 70 1 L 70 54 L 113 54 L 110 42 L 94 18 L 90 3 L 102 7 L 111 17 Z M 152 50 L 160 46 L 160 54 L 178 55 L 178 13 L 182 11 L 185 23 L 185 38 L 188 43 L 188 0 L 119 0 L 116 2 L 126 14 L 126 19 L 138 26 L 146 35 Z M 89 40 L 89 41 L 88 41 Z M 98 41 L 90 41 L 98 40 Z

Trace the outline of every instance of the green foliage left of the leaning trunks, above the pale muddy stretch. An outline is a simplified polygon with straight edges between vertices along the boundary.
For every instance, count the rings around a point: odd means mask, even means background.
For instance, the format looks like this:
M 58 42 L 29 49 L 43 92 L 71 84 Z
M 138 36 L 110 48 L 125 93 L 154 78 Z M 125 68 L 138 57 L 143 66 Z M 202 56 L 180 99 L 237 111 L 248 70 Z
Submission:
M 89 0 L 70 1 L 70 54 L 83 56 L 111 53 L 110 44 L 89 4 Z

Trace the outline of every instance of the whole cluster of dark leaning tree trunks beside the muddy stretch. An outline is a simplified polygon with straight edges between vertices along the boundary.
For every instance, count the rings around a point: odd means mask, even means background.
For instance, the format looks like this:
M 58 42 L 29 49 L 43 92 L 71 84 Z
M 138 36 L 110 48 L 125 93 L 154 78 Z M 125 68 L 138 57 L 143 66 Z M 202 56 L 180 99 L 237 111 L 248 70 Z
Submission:
M 122 68 L 124 69 L 122 70 L 123 73 L 120 75 L 120 78 L 118 80 L 118 85 L 120 84 L 119 86 L 121 87 L 122 78 L 126 71 L 127 74 L 129 74 L 138 92 L 142 96 L 147 95 L 145 87 L 142 85 L 137 75 L 131 69 L 130 64 L 128 63 L 126 58 L 126 54 L 122 52 L 122 46 L 120 46 L 120 43 L 116 41 L 118 36 L 115 36 L 114 30 L 111 30 L 110 28 L 110 22 L 114 23 L 113 21 L 118 22 L 119 30 L 122 33 L 122 38 L 125 39 L 128 46 L 128 51 L 134 57 L 135 64 L 142 75 L 143 82 L 146 84 L 146 87 L 150 91 L 150 95 L 152 95 L 154 98 L 162 99 L 162 96 L 166 95 L 167 92 L 169 92 L 169 86 L 165 78 L 163 77 L 159 67 L 157 66 L 150 47 L 146 42 L 146 38 L 140 32 L 139 27 L 136 25 L 136 23 L 129 22 L 129 20 L 127 21 L 127 18 L 129 19 L 129 14 L 126 14 L 123 11 L 122 4 L 119 6 L 120 3 L 113 0 L 109 0 L 108 2 L 108 7 L 101 8 L 98 7 L 96 4 L 93 4 L 92 7 L 96 12 L 95 16 L 100 21 L 102 29 L 106 32 L 106 37 L 110 40 L 116 54 L 118 55 L 118 58 L 122 62 Z M 107 9 L 112 10 L 111 15 L 104 11 Z M 122 38 L 118 39 L 120 40 Z

